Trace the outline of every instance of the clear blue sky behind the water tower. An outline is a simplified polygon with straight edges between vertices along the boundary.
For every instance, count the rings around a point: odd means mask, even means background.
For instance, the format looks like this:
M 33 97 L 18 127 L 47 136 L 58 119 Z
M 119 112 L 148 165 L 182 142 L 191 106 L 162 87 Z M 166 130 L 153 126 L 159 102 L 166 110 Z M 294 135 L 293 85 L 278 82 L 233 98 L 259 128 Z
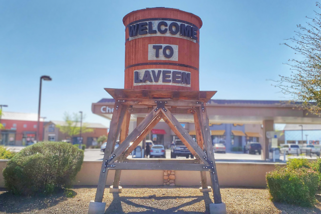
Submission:
M 314 17 L 315 0 L 304 1 L 0 1 L 0 104 L 5 111 L 38 109 L 62 120 L 83 111 L 87 122 L 109 121 L 91 113 L 108 98 L 103 88 L 123 88 L 125 33 L 122 18 L 151 7 L 177 8 L 203 20 L 200 30 L 200 89 L 216 99 L 284 100 L 267 79 L 289 75 L 283 65 L 294 53 L 284 39 L 296 24 Z M 108 30 L 108 29 L 111 29 Z

